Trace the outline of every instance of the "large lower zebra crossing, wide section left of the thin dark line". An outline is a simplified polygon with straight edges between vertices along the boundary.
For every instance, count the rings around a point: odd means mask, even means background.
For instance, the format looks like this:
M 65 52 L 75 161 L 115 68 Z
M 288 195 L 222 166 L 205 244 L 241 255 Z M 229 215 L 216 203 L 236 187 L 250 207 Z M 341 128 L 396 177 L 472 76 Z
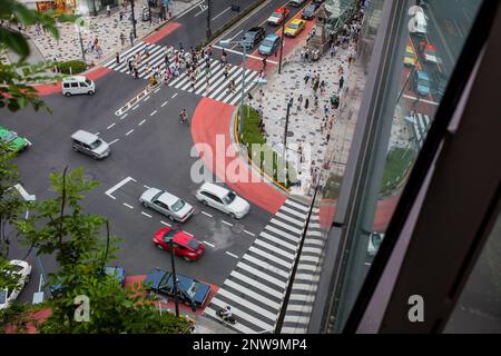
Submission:
M 244 334 L 273 333 L 308 209 L 294 199 L 285 201 L 205 308 L 206 316 L 219 320 L 216 312 L 229 305 L 237 323 L 228 327 Z

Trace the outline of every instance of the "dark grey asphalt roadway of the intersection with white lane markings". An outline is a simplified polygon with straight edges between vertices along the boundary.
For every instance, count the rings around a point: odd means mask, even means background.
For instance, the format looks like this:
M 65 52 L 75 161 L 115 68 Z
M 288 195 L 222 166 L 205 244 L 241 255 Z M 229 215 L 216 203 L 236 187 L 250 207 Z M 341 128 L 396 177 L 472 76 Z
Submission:
M 219 14 L 215 23 L 229 19 L 232 12 L 224 10 L 230 2 L 218 1 L 215 6 L 214 17 Z M 250 1 L 240 3 L 249 4 Z M 256 17 L 257 22 L 253 20 L 248 26 L 259 24 L 269 16 L 268 10 L 262 9 L 261 16 Z M 186 12 L 179 19 L 186 28 L 174 31 L 160 43 L 177 43 L 180 40 L 185 47 L 189 47 L 200 41 L 205 29 L 200 32 L 202 27 L 194 26 L 203 17 L 195 17 L 197 11 Z M 154 267 L 170 269 L 170 257 L 151 243 L 154 233 L 164 227 L 161 221 L 170 222 L 141 207 L 138 198 L 146 189 L 145 186 L 165 188 L 185 198 L 195 206 L 196 214 L 181 228 L 208 244 L 206 255 L 199 261 L 186 263 L 176 258 L 177 271 L 219 285 L 252 245 L 255 235 L 268 222 L 271 215 L 252 206 L 248 216 L 233 220 L 212 208 L 203 209 L 194 196 L 198 184 L 193 182 L 189 175 L 196 161 L 196 157 L 190 156 L 193 142 L 189 128 L 178 122 L 180 109 L 186 108 L 191 115 L 200 97 L 161 87 L 148 98 L 143 98 L 126 117 L 117 117 L 115 111 L 144 90 L 145 86 L 145 80 L 135 80 L 112 71 L 97 80 L 97 92 L 92 97 L 49 96 L 45 100 L 53 110 L 51 115 L 43 111 L 36 113 L 32 109 L 17 113 L 2 111 L 0 125 L 18 131 L 33 144 L 14 159 L 14 164 L 21 172 L 22 185 L 38 199 L 52 195 L 49 174 L 62 171 L 66 166 L 70 169 L 84 167 L 89 178 L 101 184 L 87 195 L 84 206 L 89 212 L 106 216 L 111 233 L 124 239 L 117 265 L 124 267 L 127 275 L 143 275 Z M 114 142 L 110 157 L 95 161 L 73 152 L 70 136 L 78 129 L 99 132 L 106 141 Z M 105 194 L 127 177 L 134 180 L 114 191 L 116 199 Z M 24 258 L 27 251 L 27 247 L 19 246 L 12 236 L 10 258 Z M 38 289 L 40 275 L 33 257 L 28 259 L 33 265 L 33 273 L 30 284 L 21 294 L 20 300 L 23 301 L 31 300 L 32 293 Z M 43 256 L 41 261 L 46 273 L 57 269 L 51 256 Z

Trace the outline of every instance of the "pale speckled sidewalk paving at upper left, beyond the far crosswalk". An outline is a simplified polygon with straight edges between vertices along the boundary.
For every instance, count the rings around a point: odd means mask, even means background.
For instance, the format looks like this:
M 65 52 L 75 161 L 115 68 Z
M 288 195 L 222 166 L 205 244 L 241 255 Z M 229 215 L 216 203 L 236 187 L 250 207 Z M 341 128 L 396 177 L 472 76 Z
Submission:
M 199 0 L 191 1 L 173 1 L 173 16 L 177 16 L 183 11 L 189 9 Z M 147 4 L 147 0 L 137 1 L 135 6 L 135 12 L 138 18 L 136 24 L 137 39 L 135 42 L 154 31 L 160 23 L 158 19 L 153 19 L 153 24 L 149 21 L 143 21 L 140 19 L 140 10 L 144 4 Z M 112 9 L 111 16 L 108 17 L 106 13 L 100 13 L 98 16 L 90 16 L 90 30 L 84 31 L 81 33 L 84 48 L 88 47 L 89 42 L 94 42 L 97 38 L 99 39 L 99 44 L 102 49 L 102 53 L 98 56 L 96 52 L 86 53 L 87 63 L 97 65 L 107 58 L 111 58 L 116 52 L 121 52 L 125 48 L 130 46 L 129 34 L 132 30 L 130 20 L 130 7 L 127 8 L 122 20 L 120 21 L 120 11 L 124 11 L 122 7 Z M 163 21 L 165 23 L 166 21 Z M 53 39 L 50 34 L 41 32 L 37 34 L 36 28 L 31 27 L 24 31 L 26 34 L 35 42 L 37 48 L 40 50 L 42 57 L 46 60 L 53 60 L 57 58 L 59 61 L 67 61 L 71 59 L 82 59 L 80 40 L 78 31 L 75 29 L 72 23 L 61 23 L 59 26 L 60 38 L 59 40 Z M 86 33 L 87 32 L 87 33 Z M 124 32 L 126 38 L 124 46 L 120 41 L 120 32 Z

